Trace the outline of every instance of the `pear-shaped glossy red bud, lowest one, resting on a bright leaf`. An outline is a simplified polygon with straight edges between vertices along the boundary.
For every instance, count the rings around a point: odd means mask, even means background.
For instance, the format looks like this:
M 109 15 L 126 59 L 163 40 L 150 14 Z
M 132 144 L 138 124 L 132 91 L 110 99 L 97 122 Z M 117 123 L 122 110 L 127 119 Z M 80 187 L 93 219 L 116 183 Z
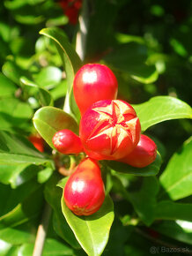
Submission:
M 67 207 L 75 215 L 92 215 L 105 200 L 104 184 L 98 164 L 86 158 L 70 176 L 63 192 Z

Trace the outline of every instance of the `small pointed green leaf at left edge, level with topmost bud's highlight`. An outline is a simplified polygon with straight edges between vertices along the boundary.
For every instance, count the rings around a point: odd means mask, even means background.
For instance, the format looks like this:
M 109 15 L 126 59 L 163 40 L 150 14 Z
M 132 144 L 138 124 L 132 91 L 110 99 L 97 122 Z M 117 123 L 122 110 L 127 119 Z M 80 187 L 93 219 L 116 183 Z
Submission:
M 0 97 L 10 97 L 16 91 L 17 87 L 0 72 Z

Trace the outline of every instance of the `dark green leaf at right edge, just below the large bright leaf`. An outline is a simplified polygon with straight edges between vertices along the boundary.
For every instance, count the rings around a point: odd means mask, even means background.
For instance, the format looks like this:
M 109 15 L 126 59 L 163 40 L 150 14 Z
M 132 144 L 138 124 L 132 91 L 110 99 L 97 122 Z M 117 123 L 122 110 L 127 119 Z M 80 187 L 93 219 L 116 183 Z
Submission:
M 160 201 L 155 207 L 155 219 L 192 222 L 192 204 L 175 203 L 171 200 Z

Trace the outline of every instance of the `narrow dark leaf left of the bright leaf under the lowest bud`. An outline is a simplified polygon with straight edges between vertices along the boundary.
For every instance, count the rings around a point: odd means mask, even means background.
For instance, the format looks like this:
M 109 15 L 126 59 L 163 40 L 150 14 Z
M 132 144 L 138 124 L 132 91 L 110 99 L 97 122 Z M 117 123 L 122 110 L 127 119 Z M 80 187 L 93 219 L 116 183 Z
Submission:
M 78 244 L 78 241 L 74 236 L 72 230 L 70 230 L 70 227 L 62 214 L 62 207 L 61 207 L 62 191 L 60 188 L 56 186 L 60 178 L 61 177 L 57 173 L 55 173 L 48 180 L 44 190 L 45 198 L 48 201 L 48 204 L 54 210 L 53 227 L 56 234 L 59 237 L 62 237 L 73 248 L 78 249 L 80 247 Z

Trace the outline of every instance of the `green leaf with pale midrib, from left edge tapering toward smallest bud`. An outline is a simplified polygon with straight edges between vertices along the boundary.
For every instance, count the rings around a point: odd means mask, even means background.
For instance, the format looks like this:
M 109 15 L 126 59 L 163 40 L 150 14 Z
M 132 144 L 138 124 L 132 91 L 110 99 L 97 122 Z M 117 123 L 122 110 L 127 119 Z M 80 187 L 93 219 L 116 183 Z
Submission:
M 0 131 L 0 164 L 49 164 L 50 159 L 44 158 L 32 144 L 22 136 L 13 135 L 10 132 Z

